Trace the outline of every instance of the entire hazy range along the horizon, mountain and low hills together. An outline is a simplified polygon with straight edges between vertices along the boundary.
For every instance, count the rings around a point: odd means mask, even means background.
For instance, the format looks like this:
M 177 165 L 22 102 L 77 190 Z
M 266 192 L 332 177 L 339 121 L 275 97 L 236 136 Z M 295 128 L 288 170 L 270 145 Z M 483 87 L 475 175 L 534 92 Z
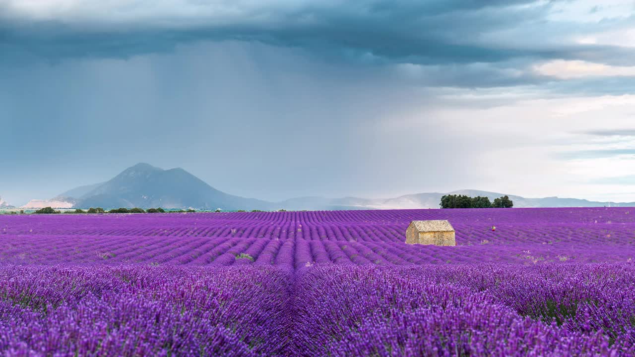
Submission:
M 505 196 L 499 192 L 459 190 L 449 194 L 486 196 L 493 199 Z M 84 185 L 66 191 L 50 200 L 32 200 L 25 206 L 57 206 L 58 208 L 119 208 L 163 207 L 215 210 L 368 210 L 439 208 L 441 192 L 407 194 L 396 198 L 368 199 L 345 197 L 328 199 L 318 196 L 268 202 L 255 198 L 234 196 L 203 182 L 182 168 L 163 170 L 146 163 L 127 168 L 119 175 L 100 184 Z M 588 201 L 576 198 L 524 198 L 507 194 L 514 207 L 601 207 L 635 206 L 635 203 Z

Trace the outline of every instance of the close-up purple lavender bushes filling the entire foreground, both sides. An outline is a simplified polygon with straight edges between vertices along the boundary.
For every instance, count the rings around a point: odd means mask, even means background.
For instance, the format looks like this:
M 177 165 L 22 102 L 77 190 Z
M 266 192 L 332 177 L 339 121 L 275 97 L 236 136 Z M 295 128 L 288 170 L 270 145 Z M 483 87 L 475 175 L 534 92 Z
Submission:
M 631 356 L 635 265 L 0 267 L 7 356 Z

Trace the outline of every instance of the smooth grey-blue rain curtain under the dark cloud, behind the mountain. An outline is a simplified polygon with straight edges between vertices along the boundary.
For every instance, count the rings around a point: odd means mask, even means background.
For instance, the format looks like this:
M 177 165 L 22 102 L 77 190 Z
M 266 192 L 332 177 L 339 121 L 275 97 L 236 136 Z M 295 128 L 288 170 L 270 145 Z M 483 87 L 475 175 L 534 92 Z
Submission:
M 366 67 L 349 71 L 273 46 L 199 43 L 130 60 L 0 66 L 0 78 L 0 131 L 9 148 L 0 162 L 12 173 L 0 175 L 0 188 L 14 204 L 146 161 L 272 200 L 392 185 L 416 192 L 422 182 L 459 177 L 395 178 L 408 162 L 467 165 L 450 159 L 468 157 L 462 144 L 435 151 L 453 137 L 438 135 L 441 128 L 417 135 L 424 141 L 417 150 L 401 131 L 377 133 L 385 118 L 431 102 L 425 88 L 413 95 Z

